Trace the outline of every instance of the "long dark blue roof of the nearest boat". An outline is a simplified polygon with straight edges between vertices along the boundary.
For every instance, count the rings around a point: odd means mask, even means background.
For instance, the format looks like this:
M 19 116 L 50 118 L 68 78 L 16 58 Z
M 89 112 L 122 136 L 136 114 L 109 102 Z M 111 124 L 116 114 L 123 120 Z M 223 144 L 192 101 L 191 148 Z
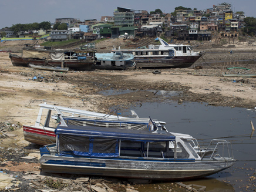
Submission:
M 175 140 L 171 133 L 156 134 L 143 130 L 116 129 L 113 127 L 93 127 L 93 126 L 58 126 L 55 134 L 68 134 L 76 136 L 102 137 L 105 139 L 126 139 L 142 142 L 167 142 Z

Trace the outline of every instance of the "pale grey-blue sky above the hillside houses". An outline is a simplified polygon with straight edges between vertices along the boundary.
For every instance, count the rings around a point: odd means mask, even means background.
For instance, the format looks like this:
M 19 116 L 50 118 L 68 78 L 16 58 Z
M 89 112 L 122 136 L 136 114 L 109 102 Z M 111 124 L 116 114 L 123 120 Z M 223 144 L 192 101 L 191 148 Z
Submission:
M 26 24 L 43 21 L 55 22 L 56 18 L 76 18 L 100 20 L 101 16 L 113 16 L 117 6 L 122 8 L 146 10 L 148 12 L 161 9 L 171 13 L 177 6 L 197 8 L 197 10 L 213 8 L 226 1 L 212 0 L 0 0 L 0 29 L 11 27 L 17 23 Z M 243 11 L 245 16 L 256 18 L 255 0 L 231 0 L 233 11 Z

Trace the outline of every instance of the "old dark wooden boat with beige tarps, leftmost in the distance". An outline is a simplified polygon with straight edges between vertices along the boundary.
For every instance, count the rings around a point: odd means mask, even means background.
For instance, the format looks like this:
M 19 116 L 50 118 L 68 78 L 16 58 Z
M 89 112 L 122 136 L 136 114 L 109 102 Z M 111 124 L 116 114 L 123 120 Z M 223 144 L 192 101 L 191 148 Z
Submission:
M 9 53 L 9 58 L 14 66 L 28 66 L 32 63 L 40 66 L 91 70 L 94 54 L 94 50 L 23 48 L 21 56 Z

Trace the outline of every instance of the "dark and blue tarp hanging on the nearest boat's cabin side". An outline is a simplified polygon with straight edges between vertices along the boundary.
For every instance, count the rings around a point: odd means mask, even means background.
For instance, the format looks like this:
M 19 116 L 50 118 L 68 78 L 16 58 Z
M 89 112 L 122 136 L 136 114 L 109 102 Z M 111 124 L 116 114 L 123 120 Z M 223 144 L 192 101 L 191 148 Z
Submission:
M 60 155 L 75 154 L 86 157 L 117 157 L 119 142 L 116 139 L 82 137 L 60 134 Z

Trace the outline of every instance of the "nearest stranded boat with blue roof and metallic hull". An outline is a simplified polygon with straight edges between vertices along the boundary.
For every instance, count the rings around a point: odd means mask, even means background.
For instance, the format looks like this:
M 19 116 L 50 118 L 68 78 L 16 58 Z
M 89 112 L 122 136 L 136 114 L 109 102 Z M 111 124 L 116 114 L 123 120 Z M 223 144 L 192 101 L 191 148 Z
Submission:
M 225 140 L 215 140 L 215 149 L 227 151 L 200 157 L 182 134 L 72 125 L 58 126 L 55 134 L 56 144 L 40 149 L 45 172 L 188 180 L 235 164 L 233 155 L 223 156 L 231 154 L 231 143 Z

